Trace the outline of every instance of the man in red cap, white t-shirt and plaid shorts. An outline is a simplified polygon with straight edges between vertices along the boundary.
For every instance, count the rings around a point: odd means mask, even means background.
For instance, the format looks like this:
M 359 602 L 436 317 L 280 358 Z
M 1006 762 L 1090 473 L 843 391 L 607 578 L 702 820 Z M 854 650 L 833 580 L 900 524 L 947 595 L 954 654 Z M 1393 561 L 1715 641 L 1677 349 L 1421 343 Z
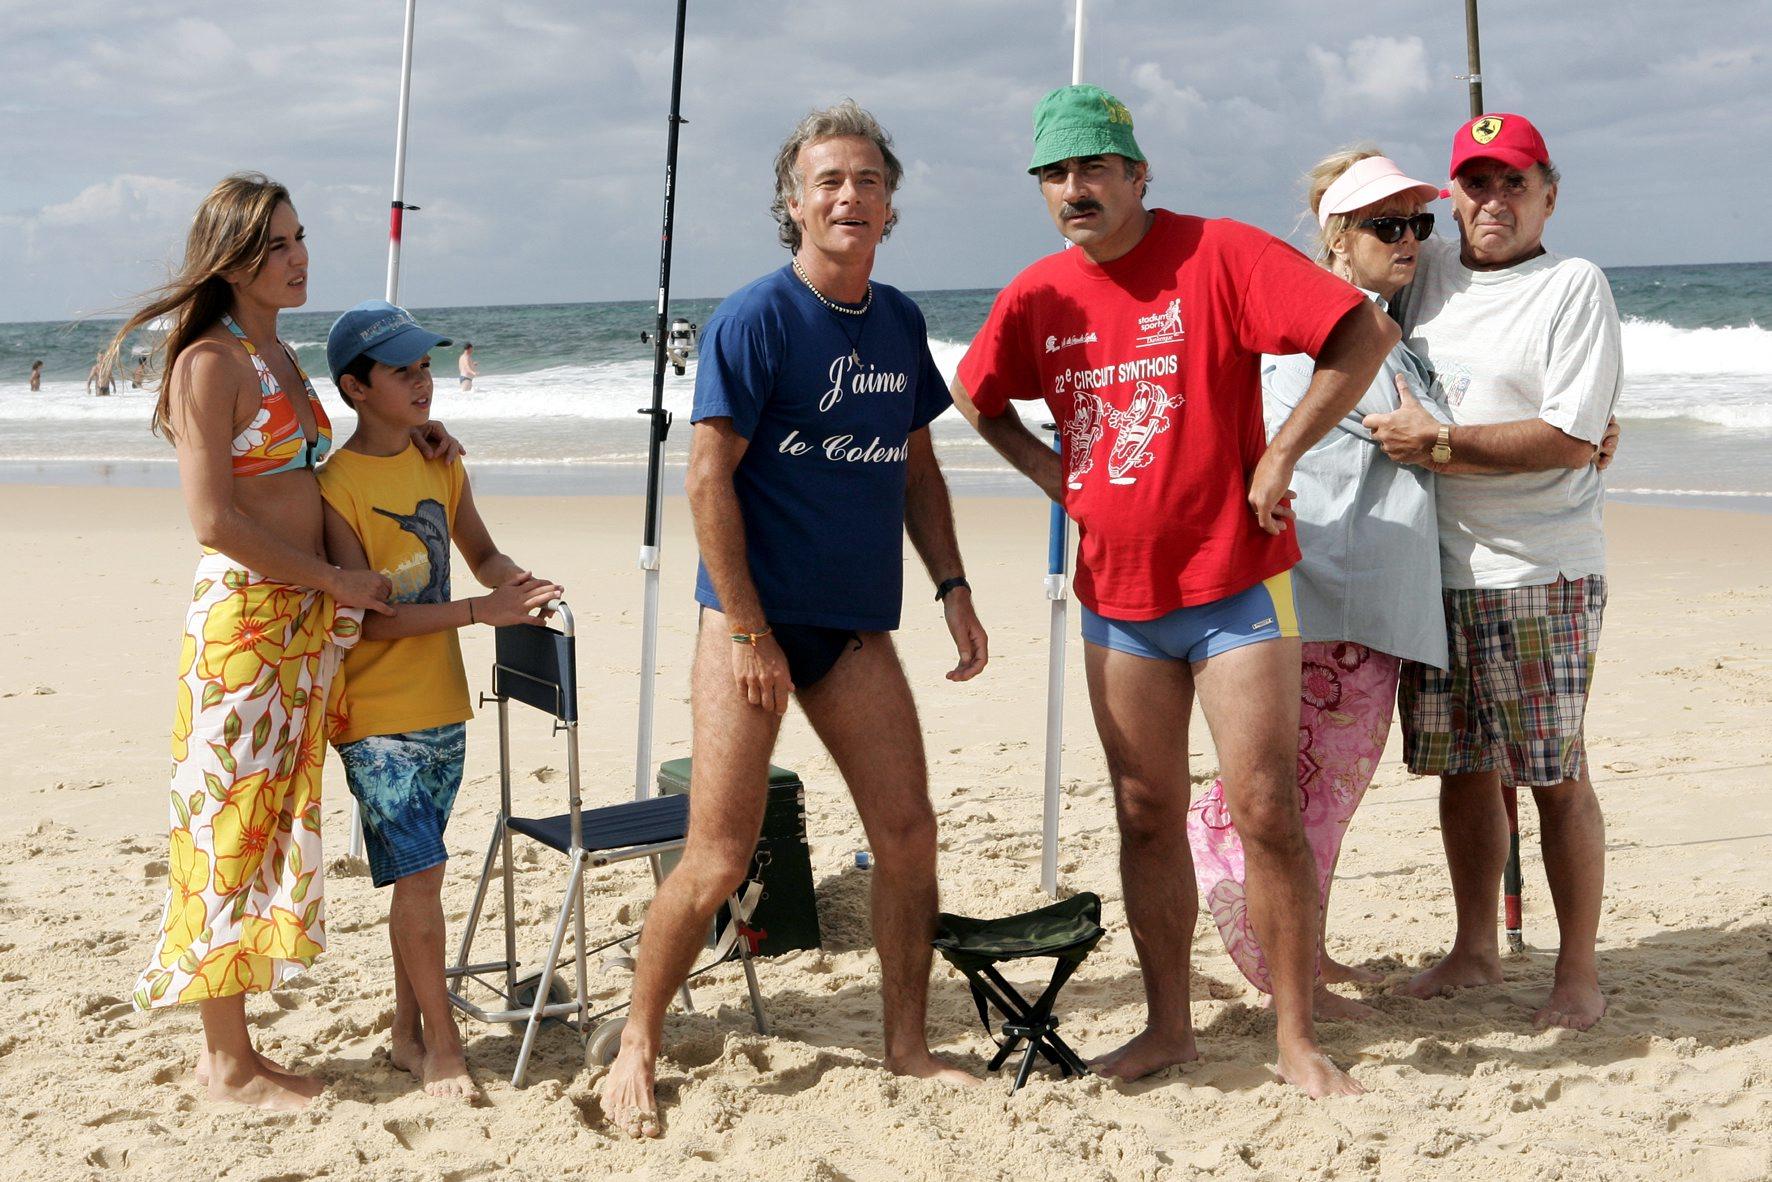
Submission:
M 1458 934 L 1402 987 L 1430 998 L 1501 982 L 1496 902 L 1508 856 L 1503 782 L 1533 789 L 1559 950 L 1540 1026 L 1605 1012 L 1593 945 L 1605 824 L 1582 718 L 1605 610 L 1605 484 L 1597 448 L 1621 386 L 1605 275 L 1543 246 L 1558 170 L 1524 115 L 1481 115 L 1453 136 L 1462 241 L 1421 245 L 1398 299 L 1409 346 L 1439 374 L 1451 425 L 1405 400 L 1366 425 L 1400 463 L 1453 459 L 1494 475 L 1437 482 L 1451 668 L 1407 666 L 1403 755 L 1441 776 L 1441 835 Z

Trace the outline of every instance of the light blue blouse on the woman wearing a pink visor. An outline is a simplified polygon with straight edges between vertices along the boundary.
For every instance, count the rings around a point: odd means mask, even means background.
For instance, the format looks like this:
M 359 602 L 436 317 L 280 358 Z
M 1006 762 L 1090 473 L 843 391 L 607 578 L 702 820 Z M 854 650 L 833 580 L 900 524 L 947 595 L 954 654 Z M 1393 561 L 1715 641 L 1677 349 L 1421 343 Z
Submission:
M 1384 307 L 1382 298 L 1366 294 Z M 1262 358 L 1269 436 L 1304 397 L 1315 367 L 1302 353 Z M 1446 668 L 1434 473 L 1393 463 L 1361 425 L 1366 415 L 1396 409 L 1398 372 L 1409 376 L 1430 415 L 1451 422 L 1439 383 L 1421 358 L 1403 344 L 1391 349 L 1359 406 L 1292 473 L 1304 553 L 1292 569 L 1292 588 L 1304 640 L 1352 640 Z

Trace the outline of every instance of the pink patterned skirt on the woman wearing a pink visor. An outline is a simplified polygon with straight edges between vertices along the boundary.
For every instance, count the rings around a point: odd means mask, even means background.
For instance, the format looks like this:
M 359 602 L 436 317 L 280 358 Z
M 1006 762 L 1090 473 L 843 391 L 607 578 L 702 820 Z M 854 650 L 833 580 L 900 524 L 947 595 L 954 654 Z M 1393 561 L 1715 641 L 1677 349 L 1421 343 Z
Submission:
M 1299 808 L 1304 838 L 1317 859 L 1317 897 L 1329 897 L 1329 879 L 1341 854 L 1347 822 L 1372 783 L 1384 755 L 1396 705 L 1396 657 L 1347 640 L 1304 645 L 1299 702 Z M 1187 810 L 1187 845 L 1194 881 L 1232 960 L 1262 992 L 1274 985 L 1267 957 L 1249 925 L 1244 897 L 1242 838 L 1224 805 L 1224 782 L 1214 780 Z

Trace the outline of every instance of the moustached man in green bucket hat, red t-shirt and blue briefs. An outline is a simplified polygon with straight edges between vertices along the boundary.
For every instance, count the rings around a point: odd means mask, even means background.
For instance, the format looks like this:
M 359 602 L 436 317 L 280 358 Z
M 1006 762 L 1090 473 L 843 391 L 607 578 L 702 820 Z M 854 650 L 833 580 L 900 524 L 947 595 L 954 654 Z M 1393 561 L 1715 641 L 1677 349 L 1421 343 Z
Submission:
M 1077 250 L 1003 289 L 953 400 L 1077 523 L 1084 668 L 1120 819 L 1125 909 L 1148 1024 L 1100 1058 L 1136 1079 L 1196 1058 L 1187 1003 L 1198 898 L 1187 851 L 1194 693 L 1247 856 L 1249 920 L 1274 975 L 1279 1076 L 1356 1093 L 1311 1024 L 1317 874 L 1299 820 L 1299 629 L 1288 571 L 1292 466 L 1348 413 L 1396 326 L 1283 241 L 1230 220 L 1145 209 L 1132 115 L 1095 87 L 1035 108 L 1040 179 Z M 1263 443 L 1262 353 L 1317 376 Z M 1010 399 L 1044 399 L 1056 454 Z

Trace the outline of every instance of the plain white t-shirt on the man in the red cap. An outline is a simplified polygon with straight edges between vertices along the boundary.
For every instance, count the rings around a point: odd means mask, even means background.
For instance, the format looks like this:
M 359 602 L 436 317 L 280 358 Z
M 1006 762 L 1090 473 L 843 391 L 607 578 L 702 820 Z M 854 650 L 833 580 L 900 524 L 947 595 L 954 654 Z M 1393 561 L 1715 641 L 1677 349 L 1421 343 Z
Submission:
M 1542 418 L 1600 443 L 1623 385 L 1618 307 L 1600 268 L 1543 253 L 1471 271 L 1428 239 L 1398 299 L 1409 347 L 1439 376 L 1453 424 Z M 1457 445 L 1453 447 L 1457 459 Z M 1591 464 L 1439 477 L 1446 587 L 1536 587 L 1605 572 L 1605 480 Z

